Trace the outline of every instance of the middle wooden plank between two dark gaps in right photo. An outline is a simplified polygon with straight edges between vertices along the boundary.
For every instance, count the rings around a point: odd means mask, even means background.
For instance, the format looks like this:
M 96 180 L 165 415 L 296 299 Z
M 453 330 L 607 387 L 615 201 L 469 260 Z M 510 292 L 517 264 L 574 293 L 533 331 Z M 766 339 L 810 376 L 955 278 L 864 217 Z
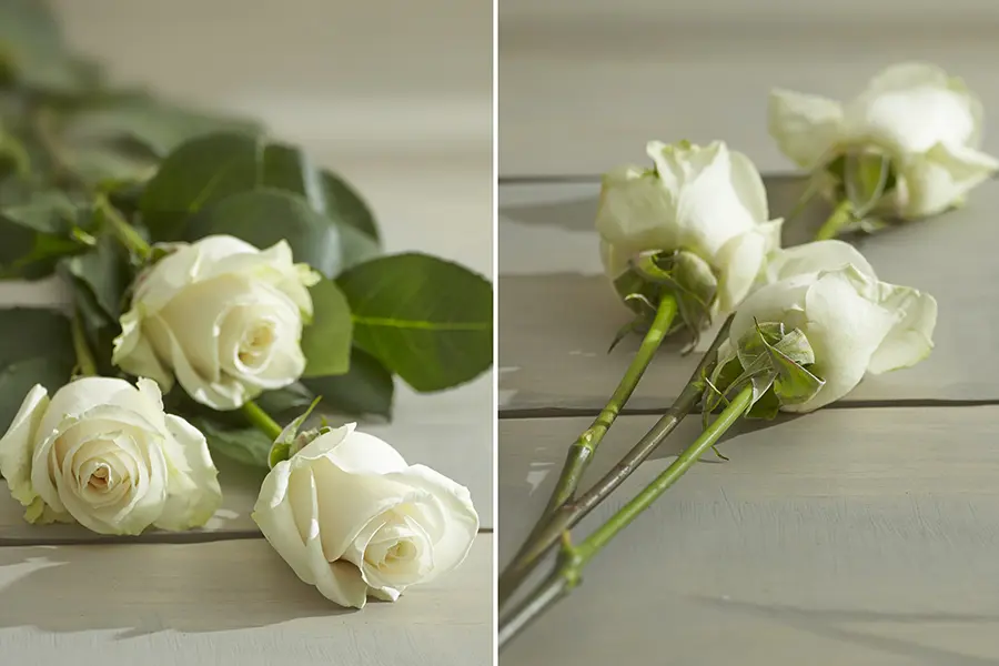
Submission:
M 771 214 L 788 212 L 803 183 L 765 180 Z M 606 353 L 629 312 L 602 275 L 593 228 L 598 191 L 596 183 L 500 190 L 502 410 L 601 407 L 637 349 L 633 336 Z M 929 359 L 864 380 L 844 402 L 999 398 L 999 356 L 990 353 L 991 331 L 999 329 L 997 206 L 999 182 L 988 182 L 962 210 L 862 239 L 859 248 L 882 280 L 934 294 L 940 315 Z M 809 239 L 825 212 L 817 205 L 789 223 L 785 244 Z M 702 349 L 712 337 L 704 336 Z M 699 360 L 679 356 L 682 346 L 664 345 L 629 407 L 668 405 Z

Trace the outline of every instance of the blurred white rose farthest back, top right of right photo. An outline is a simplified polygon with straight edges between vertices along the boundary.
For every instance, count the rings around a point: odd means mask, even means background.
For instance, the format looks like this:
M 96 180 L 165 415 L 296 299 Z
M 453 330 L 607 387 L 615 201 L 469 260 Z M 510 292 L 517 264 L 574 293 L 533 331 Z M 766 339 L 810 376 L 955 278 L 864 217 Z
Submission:
M 842 107 L 787 90 L 770 93 L 770 134 L 798 165 L 815 169 L 849 149 L 887 153 L 898 183 L 891 212 L 902 218 L 940 213 L 999 170 L 980 152 L 982 109 L 960 79 L 922 63 L 876 75 Z

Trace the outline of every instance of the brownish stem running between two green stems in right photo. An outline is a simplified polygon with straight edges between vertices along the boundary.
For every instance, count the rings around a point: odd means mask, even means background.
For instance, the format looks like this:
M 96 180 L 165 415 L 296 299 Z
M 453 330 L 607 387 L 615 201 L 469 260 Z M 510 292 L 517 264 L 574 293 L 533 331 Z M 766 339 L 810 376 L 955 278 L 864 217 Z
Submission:
M 728 329 L 731 325 L 729 316 L 719 329 L 714 342 L 705 352 L 686 386 L 679 396 L 669 406 L 669 410 L 659 417 L 656 424 L 642 440 L 597 483 L 585 494 L 574 501 L 559 506 L 547 519 L 542 519 L 513 561 L 506 566 L 498 582 L 500 604 L 503 605 L 516 592 L 531 572 L 537 567 L 542 557 L 558 543 L 562 534 L 572 529 L 579 521 L 585 518 L 601 502 L 603 502 L 617 486 L 630 476 L 652 453 L 676 428 L 680 421 L 694 410 L 700 394 L 704 391 L 703 377 L 710 372 L 718 356 L 718 347 L 728 337 Z

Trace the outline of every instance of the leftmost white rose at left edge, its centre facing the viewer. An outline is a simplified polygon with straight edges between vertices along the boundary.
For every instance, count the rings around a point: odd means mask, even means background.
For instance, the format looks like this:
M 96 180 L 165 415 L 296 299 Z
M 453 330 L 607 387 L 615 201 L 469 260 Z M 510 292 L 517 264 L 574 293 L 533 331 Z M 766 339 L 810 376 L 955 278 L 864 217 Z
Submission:
M 34 386 L 0 440 L 0 473 L 29 522 L 101 534 L 199 527 L 222 502 L 204 435 L 144 379 L 83 377 L 51 401 Z

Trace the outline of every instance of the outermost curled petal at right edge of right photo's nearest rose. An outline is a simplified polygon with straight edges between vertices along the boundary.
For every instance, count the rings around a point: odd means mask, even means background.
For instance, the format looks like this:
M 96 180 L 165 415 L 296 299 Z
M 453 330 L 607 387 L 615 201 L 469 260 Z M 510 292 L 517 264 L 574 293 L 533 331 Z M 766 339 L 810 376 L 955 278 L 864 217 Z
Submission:
M 878 346 L 867 371 L 880 374 L 909 367 L 926 359 L 934 349 L 937 301 L 908 286 L 881 282 L 878 303 L 896 315 L 896 324 Z

